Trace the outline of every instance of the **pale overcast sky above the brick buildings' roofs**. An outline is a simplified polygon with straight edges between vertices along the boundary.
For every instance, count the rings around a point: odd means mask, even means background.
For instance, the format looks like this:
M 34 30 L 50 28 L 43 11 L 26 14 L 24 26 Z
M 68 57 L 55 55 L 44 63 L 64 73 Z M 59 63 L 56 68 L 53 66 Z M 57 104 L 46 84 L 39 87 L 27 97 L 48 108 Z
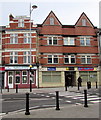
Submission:
M 30 3 L 38 8 L 32 12 L 34 24 L 42 24 L 52 10 L 63 25 L 74 25 L 84 12 L 99 27 L 100 0 L 0 0 L 0 26 L 9 24 L 9 15 L 29 16 Z

